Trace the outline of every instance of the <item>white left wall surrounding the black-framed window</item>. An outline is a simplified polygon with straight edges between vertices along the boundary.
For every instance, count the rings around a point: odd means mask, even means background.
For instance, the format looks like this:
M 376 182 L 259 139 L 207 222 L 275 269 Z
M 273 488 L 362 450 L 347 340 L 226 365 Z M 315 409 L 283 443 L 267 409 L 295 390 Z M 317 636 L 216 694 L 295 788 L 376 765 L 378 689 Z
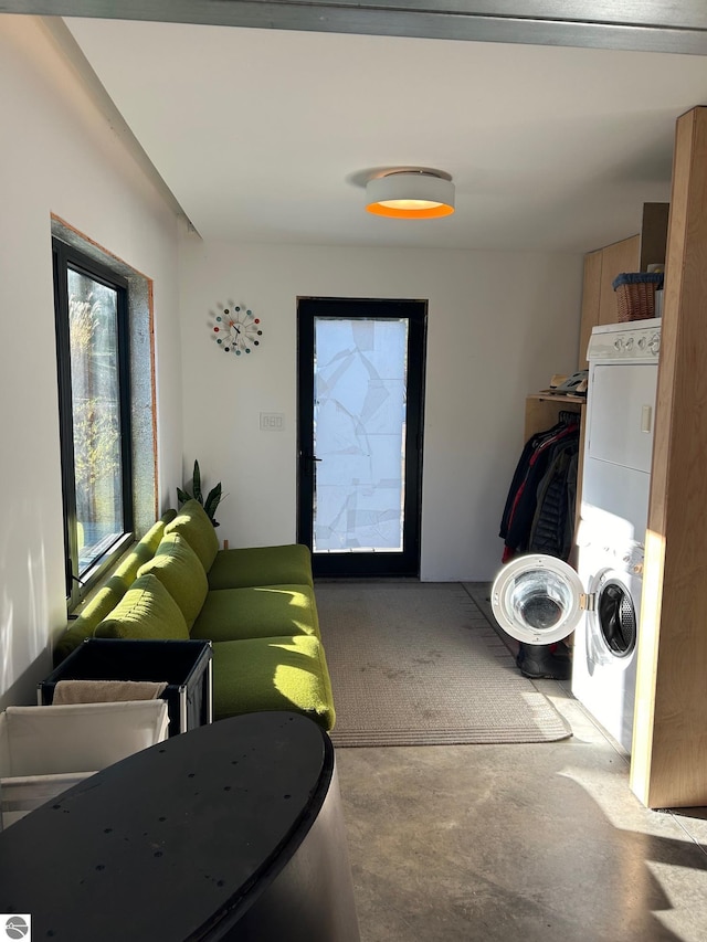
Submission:
M 32 17 L 0 15 L 0 708 L 66 624 L 51 219 L 155 282 L 160 488 L 181 474 L 178 223 Z

